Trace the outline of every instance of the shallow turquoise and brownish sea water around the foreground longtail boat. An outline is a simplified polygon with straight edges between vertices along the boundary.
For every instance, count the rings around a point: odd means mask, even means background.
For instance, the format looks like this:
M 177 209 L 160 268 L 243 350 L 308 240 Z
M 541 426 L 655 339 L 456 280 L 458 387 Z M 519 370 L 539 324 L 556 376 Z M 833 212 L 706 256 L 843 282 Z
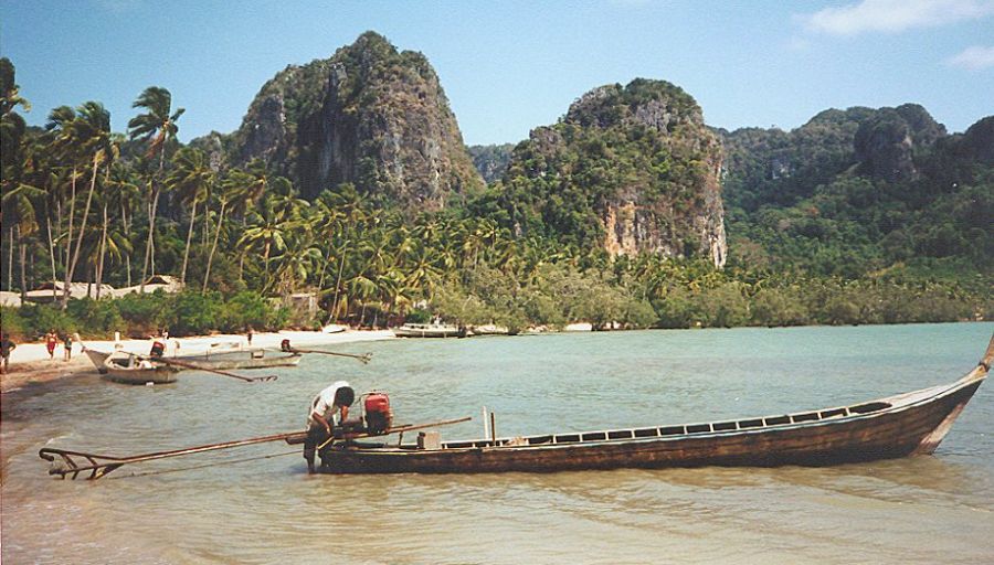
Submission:
M 2 561 L 17 563 L 981 563 L 994 558 L 994 388 L 932 457 L 833 468 L 306 475 L 267 444 L 50 478 L 45 445 L 126 455 L 292 431 L 331 381 L 444 439 L 823 408 L 970 371 L 992 323 L 394 340 L 275 383 L 81 376 L 3 396 Z M 266 371 L 268 373 L 269 371 Z M 215 465 L 225 463 L 225 465 Z

